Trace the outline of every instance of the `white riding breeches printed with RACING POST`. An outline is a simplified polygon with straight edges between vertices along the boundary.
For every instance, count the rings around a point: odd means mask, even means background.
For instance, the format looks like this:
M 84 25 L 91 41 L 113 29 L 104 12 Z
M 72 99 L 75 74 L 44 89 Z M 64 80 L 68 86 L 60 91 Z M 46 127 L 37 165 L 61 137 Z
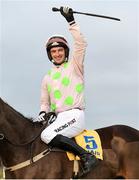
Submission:
M 84 111 L 72 109 L 59 113 L 57 119 L 42 131 L 41 139 L 48 144 L 57 134 L 72 138 L 84 129 Z

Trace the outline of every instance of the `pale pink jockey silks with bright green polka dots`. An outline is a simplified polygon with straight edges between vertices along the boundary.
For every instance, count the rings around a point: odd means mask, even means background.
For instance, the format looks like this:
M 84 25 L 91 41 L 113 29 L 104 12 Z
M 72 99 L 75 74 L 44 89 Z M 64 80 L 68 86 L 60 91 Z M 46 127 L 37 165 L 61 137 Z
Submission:
M 71 25 L 69 30 L 74 39 L 73 55 L 70 61 L 60 66 L 53 65 L 43 78 L 41 111 L 84 109 L 83 61 L 87 44 L 77 24 Z

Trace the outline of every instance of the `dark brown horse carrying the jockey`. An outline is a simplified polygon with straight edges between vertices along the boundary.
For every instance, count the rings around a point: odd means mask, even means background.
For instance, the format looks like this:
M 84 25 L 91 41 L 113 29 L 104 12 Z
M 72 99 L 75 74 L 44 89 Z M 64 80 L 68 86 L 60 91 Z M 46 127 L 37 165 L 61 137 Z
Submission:
M 40 123 L 33 123 L 31 118 L 25 117 L 0 98 L 0 158 L 6 179 L 73 177 L 74 164 L 73 161 L 69 161 L 66 153 L 59 149 L 51 149 L 41 141 L 40 133 L 43 128 Z M 120 167 L 121 158 L 115 148 L 117 142 L 114 138 L 121 138 L 125 143 L 138 142 L 139 131 L 126 125 L 112 125 L 96 131 L 102 142 L 104 160 L 99 160 L 92 171 L 80 178 L 126 178 L 124 173 L 119 174 L 120 168 L 124 167 Z M 137 156 L 139 157 L 139 153 Z M 127 155 L 124 156 L 124 159 L 126 158 Z M 130 164 L 128 161 L 127 163 Z M 131 174 L 133 179 L 139 178 L 138 174 L 134 174 L 134 167 Z

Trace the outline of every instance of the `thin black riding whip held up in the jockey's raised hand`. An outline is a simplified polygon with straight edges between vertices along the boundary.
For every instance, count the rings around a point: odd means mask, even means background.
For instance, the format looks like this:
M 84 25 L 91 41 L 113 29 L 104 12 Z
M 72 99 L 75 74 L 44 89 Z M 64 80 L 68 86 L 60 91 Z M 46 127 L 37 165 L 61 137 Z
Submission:
M 60 11 L 60 9 L 53 7 L 52 11 L 57 12 Z M 111 16 L 104 16 L 104 15 L 98 15 L 98 14 L 92 14 L 92 13 L 85 13 L 85 12 L 79 12 L 79 11 L 73 11 L 73 13 L 76 14 L 83 14 L 83 15 L 87 15 L 87 16 L 95 16 L 95 17 L 99 17 L 99 18 L 106 18 L 106 19 L 111 19 L 111 20 L 115 20 L 115 21 L 120 21 L 119 18 L 115 18 L 115 17 L 111 17 Z

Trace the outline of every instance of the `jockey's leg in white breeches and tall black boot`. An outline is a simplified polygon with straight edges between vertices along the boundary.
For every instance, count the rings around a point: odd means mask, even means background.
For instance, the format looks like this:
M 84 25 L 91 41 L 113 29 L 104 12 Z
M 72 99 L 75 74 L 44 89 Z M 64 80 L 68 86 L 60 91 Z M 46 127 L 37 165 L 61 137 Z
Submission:
M 73 109 L 59 113 L 57 119 L 41 133 L 41 139 L 52 147 L 70 151 L 81 158 L 84 173 L 88 173 L 97 164 L 96 157 L 80 147 L 71 138 L 85 129 L 84 111 Z

